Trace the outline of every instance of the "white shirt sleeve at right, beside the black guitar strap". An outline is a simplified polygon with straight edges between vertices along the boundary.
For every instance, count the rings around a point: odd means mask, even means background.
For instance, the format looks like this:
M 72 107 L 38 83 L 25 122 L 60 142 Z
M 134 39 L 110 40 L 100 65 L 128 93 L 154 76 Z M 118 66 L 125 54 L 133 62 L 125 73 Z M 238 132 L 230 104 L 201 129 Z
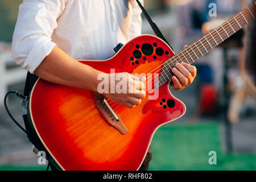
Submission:
M 144 1 L 139 0 L 143 6 Z M 131 0 L 131 7 L 132 7 L 132 21 L 131 25 L 129 28 L 129 36 L 130 39 L 133 39 L 139 35 L 141 35 L 141 27 L 142 27 L 142 18 L 141 18 L 141 13 L 142 10 L 139 7 L 138 3 L 135 0 Z

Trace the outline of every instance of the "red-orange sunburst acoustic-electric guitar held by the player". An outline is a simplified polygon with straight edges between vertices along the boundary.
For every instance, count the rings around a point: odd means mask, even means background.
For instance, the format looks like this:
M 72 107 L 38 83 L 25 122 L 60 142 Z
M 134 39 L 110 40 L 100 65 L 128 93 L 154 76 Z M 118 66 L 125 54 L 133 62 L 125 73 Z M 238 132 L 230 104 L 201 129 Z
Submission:
M 79 60 L 110 73 L 159 73 L 150 94 L 133 109 L 109 101 L 90 90 L 53 84 L 39 78 L 28 104 L 30 124 L 51 162 L 63 170 L 137 170 L 158 127 L 185 113 L 185 105 L 172 96 L 169 82 L 175 63 L 195 63 L 214 47 L 251 22 L 254 4 L 241 11 L 191 46 L 175 54 L 162 39 L 142 35 L 130 40 L 108 60 Z M 154 86 L 154 83 L 158 86 Z

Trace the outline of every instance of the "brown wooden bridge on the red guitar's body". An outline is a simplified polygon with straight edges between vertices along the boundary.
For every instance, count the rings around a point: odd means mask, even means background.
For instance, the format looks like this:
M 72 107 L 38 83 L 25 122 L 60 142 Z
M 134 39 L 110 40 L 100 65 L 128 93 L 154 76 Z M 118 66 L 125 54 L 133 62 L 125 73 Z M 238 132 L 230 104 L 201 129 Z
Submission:
M 117 113 L 114 112 L 112 107 L 106 101 L 106 98 L 97 92 L 93 92 L 94 99 L 98 109 L 100 110 L 101 115 L 117 129 L 121 134 L 126 134 L 128 132 L 126 126 L 123 124 L 122 120 L 118 117 Z

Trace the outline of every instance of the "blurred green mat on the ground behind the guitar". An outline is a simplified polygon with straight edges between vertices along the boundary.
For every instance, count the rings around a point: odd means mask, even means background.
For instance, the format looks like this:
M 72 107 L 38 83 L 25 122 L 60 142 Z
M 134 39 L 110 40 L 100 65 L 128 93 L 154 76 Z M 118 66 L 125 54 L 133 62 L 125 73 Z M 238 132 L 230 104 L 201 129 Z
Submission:
M 160 127 L 152 139 L 150 170 L 256 170 L 256 155 L 225 154 L 218 123 L 176 124 Z M 217 164 L 210 165 L 209 151 Z M 45 170 L 46 166 L 0 166 L 0 170 Z

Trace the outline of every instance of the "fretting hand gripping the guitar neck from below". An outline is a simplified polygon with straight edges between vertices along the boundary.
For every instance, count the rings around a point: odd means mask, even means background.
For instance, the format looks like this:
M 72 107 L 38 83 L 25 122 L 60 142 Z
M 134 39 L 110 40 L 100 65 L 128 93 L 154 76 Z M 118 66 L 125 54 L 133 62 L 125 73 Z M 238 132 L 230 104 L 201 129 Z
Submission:
M 185 49 L 187 45 L 183 47 Z M 172 68 L 171 89 L 172 90 L 182 90 L 185 86 L 192 84 L 196 77 L 196 67 L 187 63 L 177 63 L 175 68 Z

